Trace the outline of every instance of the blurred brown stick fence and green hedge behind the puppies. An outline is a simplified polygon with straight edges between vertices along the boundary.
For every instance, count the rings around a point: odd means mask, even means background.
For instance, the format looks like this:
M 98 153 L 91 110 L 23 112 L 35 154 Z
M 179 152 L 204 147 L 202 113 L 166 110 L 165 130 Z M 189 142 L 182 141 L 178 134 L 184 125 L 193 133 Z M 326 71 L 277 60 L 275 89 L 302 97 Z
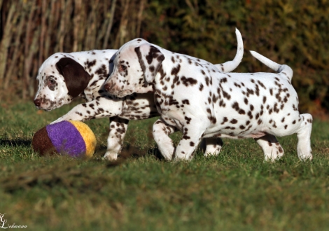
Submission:
M 237 72 L 270 71 L 255 50 L 294 70 L 300 111 L 329 109 L 327 0 L 0 0 L 0 97 L 31 100 L 36 73 L 54 52 L 117 49 L 141 37 L 167 50 L 231 60 L 244 38 Z M 8 94 L 10 92 L 10 94 Z

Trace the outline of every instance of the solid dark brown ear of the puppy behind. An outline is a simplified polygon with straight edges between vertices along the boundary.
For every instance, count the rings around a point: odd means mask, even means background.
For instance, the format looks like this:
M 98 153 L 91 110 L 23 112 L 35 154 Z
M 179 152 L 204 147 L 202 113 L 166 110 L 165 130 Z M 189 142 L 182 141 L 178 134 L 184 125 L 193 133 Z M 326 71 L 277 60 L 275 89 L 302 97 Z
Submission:
M 83 66 L 69 57 L 59 59 L 56 68 L 64 76 L 65 84 L 71 97 L 77 97 L 82 93 L 92 78 Z

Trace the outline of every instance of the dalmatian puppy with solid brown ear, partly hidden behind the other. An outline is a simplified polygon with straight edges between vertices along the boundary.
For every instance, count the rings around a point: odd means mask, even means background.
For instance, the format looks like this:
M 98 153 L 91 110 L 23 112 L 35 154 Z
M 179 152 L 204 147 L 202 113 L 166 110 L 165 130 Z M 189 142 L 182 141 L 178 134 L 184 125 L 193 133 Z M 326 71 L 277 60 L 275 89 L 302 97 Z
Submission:
M 238 50 L 235 59 L 217 64 L 221 71 L 230 72 L 241 62 L 243 42 L 237 32 Z M 123 139 L 129 120 L 141 120 L 159 116 L 154 104 L 153 85 L 142 81 L 142 94 L 131 94 L 117 98 L 104 90 L 104 82 L 113 71 L 113 59 L 117 50 L 90 50 L 84 52 L 55 53 L 43 62 L 38 70 L 38 91 L 34 104 L 38 109 L 51 111 L 69 104 L 75 97 L 86 100 L 75 106 L 66 115 L 52 123 L 62 120 L 90 120 L 111 118 L 107 151 L 104 158 L 116 160 L 123 147 Z M 167 132 L 176 130 L 165 127 Z M 222 141 L 209 138 L 203 141 L 205 153 L 220 150 Z

